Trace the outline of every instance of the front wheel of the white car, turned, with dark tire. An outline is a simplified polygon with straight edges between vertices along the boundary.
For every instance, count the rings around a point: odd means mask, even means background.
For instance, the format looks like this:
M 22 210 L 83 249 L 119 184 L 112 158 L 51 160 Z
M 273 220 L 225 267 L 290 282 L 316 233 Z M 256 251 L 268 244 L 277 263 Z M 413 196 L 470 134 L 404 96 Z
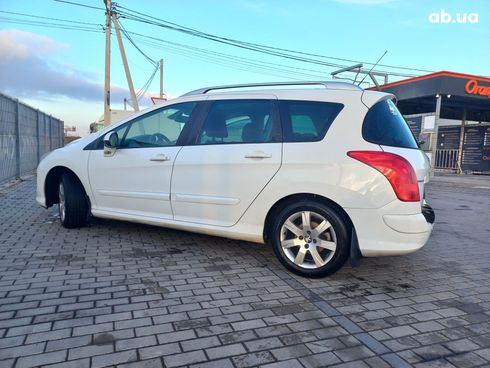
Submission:
M 87 223 L 87 198 L 80 181 L 72 174 L 63 174 L 58 187 L 58 211 L 61 225 L 68 229 Z

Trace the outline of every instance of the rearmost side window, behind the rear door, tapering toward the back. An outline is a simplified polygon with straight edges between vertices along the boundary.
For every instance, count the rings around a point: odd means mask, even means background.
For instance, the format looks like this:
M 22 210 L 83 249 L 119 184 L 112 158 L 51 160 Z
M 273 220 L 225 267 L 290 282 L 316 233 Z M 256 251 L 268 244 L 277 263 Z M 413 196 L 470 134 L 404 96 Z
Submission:
M 344 105 L 332 102 L 281 101 L 284 142 L 311 142 L 325 137 Z

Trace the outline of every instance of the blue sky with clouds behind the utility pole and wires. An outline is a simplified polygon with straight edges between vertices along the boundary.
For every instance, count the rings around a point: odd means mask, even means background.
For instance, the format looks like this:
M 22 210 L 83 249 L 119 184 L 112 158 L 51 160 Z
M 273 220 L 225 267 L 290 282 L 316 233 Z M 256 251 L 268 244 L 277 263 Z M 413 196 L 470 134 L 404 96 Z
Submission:
M 0 0 L 0 92 L 85 134 L 89 124 L 103 113 L 105 14 L 92 7 L 103 8 L 104 3 L 67 1 L 87 6 L 56 0 Z M 297 60 L 313 58 L 310 56 L 295 54 L 294 59 L 285 59 L 120 18 L 149 59 L 164 59 L 164 91 L 170 98 L 209 85 L 329 80 L 339 66 L 364 62 L 370 69 L 373 65 L 367 63 L 375 63 L 385 51 L 375 71 L 421 75 L 449 70 L 490 75 L 488 0 L 119 0 L 117 4 L 126 14 L 139 12 L 140 16 L 154 17 L 157 23 L 167 21 L 262 44 L 269 51 L 275 47 L 337 58 L 314 57 L 321 63 L 312 64 Z M 444 14 L 455 22 L 445 23 Z M 63 28 L 53 28 L 53 24 Z M 155 67 L 127 39 L 124 44 L 139 91 Z M 389 81 L 403 78 L 390 75 Z M 157 74 L 140 104 L 151 105 L 149 97 L 158 93 Z M 113 35 L 111 107 L 122 109 L 125 97 L 130 95 Z

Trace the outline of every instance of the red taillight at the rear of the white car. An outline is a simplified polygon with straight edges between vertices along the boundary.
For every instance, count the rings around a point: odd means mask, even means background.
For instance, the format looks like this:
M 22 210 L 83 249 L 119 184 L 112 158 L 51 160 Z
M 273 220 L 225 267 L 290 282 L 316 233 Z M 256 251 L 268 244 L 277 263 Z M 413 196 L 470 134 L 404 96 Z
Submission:
M 350 151 L 347 155 L 383 174 L 400 201 L 420 201 L 417 176 L 410 162 L 403 157 L 381 151 Z

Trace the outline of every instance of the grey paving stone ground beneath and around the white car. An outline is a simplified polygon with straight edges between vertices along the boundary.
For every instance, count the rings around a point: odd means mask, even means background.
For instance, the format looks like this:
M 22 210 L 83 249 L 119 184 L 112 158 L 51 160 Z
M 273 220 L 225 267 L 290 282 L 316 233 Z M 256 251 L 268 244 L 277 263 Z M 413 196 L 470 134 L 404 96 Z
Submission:
M 482 179 L 485 180 L 485 179 Z M 436 180 L 422 250 L 310 280 L 267 246 L 0 191 L 0 367 L 490 367 L 490 179 Z

